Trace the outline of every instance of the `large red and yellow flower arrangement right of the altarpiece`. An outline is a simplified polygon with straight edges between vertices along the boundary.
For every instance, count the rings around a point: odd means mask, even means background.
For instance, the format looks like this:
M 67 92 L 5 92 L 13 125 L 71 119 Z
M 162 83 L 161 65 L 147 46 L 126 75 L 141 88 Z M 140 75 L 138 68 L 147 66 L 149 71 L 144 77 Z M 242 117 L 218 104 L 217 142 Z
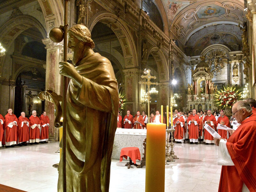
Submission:
M 236 87 L 229 86 L 227 87 L 223 86 L 222 90 L 217 90 L 217 93 L 215 94 L 216 99 L 216 105 L 222 106 L 223 108 L 232 108 L 233 104 L 241 98 L 242 92 Z

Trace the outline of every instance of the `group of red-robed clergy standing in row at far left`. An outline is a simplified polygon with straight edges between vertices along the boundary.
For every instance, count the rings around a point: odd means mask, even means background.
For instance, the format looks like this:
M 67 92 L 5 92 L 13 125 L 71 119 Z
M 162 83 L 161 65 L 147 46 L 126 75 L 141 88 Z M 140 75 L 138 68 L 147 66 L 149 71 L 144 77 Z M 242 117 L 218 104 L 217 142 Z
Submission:
M 50 120 L 46 111 L 38 117 L 37 111 L 33 110 L 28 119 L 25 112 L 21 112 L 21 116 L 17 118 L 9 108 L 4 117 L 0 114 L 0 121 L 0 147 L 47 143 Z

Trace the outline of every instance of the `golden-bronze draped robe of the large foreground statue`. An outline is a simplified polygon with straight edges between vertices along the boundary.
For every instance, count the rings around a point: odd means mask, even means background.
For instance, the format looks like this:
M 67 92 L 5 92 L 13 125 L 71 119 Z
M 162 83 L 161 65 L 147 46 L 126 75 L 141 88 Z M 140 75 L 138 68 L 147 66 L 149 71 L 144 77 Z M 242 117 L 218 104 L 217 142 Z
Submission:
M 70 80 L 67 91 L 67 192 L 108 192 L 118 84 L 110 61 L 98 53 L 82 59 L 76 69 L 83 83 L 79 87 Z M 62 159 L 58 191 L 62 191 Z

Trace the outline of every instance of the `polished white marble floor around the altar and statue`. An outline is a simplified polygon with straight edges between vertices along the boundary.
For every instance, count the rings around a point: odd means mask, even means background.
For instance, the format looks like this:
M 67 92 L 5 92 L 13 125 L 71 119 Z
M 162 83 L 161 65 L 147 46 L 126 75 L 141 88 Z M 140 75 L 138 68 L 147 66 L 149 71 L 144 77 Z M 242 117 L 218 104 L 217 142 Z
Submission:
M 0 148 L 0 184 L 28 192 L 57 191 L 58 142 Z M 217 165 L 217 147 L 175 144 L 179 159 L 165 169 L 165 192 L 216 192 L 221 166 Z M 144 192 L 145 168 L 127 169 L 126 161 L 112 160 L 110 192 Z

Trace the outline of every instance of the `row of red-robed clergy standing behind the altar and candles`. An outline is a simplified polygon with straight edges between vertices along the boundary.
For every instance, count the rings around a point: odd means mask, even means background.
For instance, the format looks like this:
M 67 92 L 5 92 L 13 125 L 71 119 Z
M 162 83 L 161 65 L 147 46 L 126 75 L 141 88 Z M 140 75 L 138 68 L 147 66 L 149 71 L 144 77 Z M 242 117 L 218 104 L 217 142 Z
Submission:
M 256 101 L 254 99 L 249 98 L 247 101 L 251 103 L 253 109 L 256 107 Z M 237 123 L 234 115 L 229 119 L 225 115 L 225 111 L 221 109 L 215 109 L 213 112 L 211 110 L 203 111 L 202 109 L 200 109 L 200 111 L 193 109 L 192 111 L 182 112 L 175 109 L 173 111 L 172 121 L 175 129 L 174 139 L 176 143 L 185 143 L 185 141 L 187 141 L 190 144 L 198 144 L 199 141 L 202 141 L 205 145 L 214 145 L 213 136 L 204 129 L 206 124 L 211 126 L 211 128 L 217 131 L 224 139 L 228 139 L 233 133 L 232 130 L 235 131 L 240 125 Z M 136 115 L 133 116 L 130 114 L 130 110 L 128 110 L 124 118 L 120 115 L 120 111 L 118 113 L 118 128 L 146 129 L 147 123 L 161 123 L 161 114 L 159 111 L 151 112 L 149 118 L 145 111 L 142 111 L 142 114 L 140 114 L 140 111 L 137 111 Z M 218 124 L 232 128 L 232 130 L 218 129 Z M 169 112 L 169 127 L 170 126 L 171 113 Z

